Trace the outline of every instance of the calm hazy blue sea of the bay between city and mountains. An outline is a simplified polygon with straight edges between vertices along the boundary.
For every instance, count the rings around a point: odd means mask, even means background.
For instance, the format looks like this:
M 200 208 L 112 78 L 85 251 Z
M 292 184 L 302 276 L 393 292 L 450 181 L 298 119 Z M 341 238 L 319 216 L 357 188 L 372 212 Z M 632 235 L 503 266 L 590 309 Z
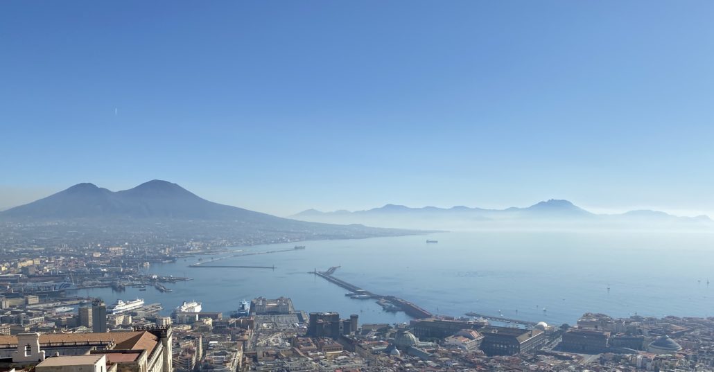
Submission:
M 426 240 L 438 243 L 426 243 Z M 573 324 L 586 312 L 610 316 L 714 316 L 714 233 L 675 231 L 460 231 L 418 236 L 298 243 L 306 249 L 241 256 L 215 264 L 275 268 L 191 268 L 221 256 L 196 256 L 152 264 L 166 283 L 161 293 L 127 287 L 79 291 L 117 299 L 144 298 L 169 314 L 182 301 L 228 314 L 258 296 L 291 298 L 297 310 L 358 314 L 361 323 L 404 323 L 374 300 L 348 298 L 346 290 L 308 273 L 339 266 L 334 276 L 373 293 L 393 295 L 432 313 L 490 316 Z M 296 243 L 231 249 L 264 252 Z M 712 280 L 709 284 L 708 281 Z

